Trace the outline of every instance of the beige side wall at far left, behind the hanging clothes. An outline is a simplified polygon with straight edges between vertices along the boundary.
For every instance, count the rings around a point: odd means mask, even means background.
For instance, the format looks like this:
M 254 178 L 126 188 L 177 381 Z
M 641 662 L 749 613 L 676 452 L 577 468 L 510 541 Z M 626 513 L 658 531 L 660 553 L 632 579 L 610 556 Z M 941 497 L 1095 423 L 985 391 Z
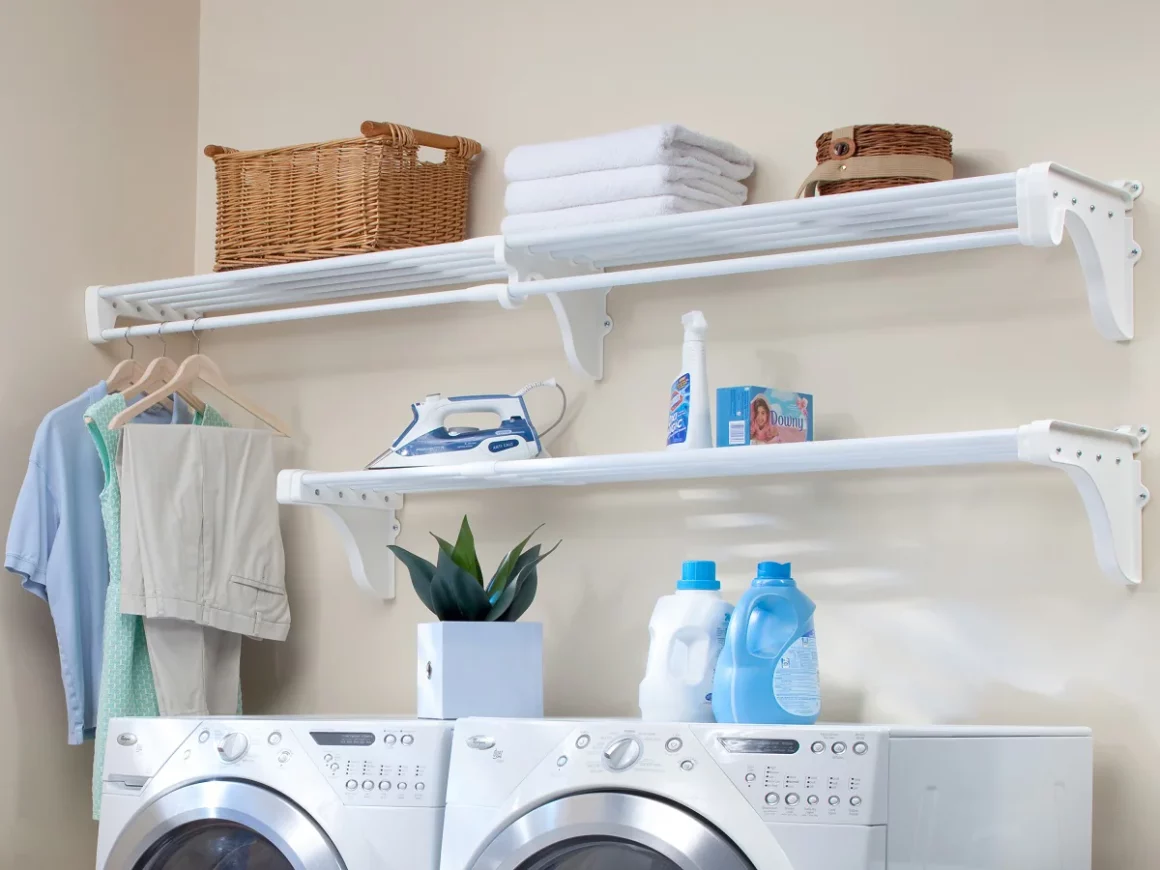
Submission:
M 0 3 L 0 82 L 7 299 L 0 516 L 7 522 L 41 418 L 124 354 L 123 346 L 110 354 L 85 340 L 85 285 L 193 266 L 197 5 Z M 0 865 L 87 868 L 96 838 L 93 745 L 66 745 L 48 607 L 5 577 Z

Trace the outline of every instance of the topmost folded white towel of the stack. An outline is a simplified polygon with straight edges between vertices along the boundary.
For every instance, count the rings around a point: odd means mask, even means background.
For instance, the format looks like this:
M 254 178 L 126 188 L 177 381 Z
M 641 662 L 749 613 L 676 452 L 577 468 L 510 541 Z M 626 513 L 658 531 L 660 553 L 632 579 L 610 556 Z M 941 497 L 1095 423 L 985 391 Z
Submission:
M 508 181 L 530 181 L 652 164 L 691 166 L 735 181 L 753 172 L 753 158 L 737 145 L 679 124 L 655 124 L 585 139 L 520 145 L 503 161 L 503 175 Z

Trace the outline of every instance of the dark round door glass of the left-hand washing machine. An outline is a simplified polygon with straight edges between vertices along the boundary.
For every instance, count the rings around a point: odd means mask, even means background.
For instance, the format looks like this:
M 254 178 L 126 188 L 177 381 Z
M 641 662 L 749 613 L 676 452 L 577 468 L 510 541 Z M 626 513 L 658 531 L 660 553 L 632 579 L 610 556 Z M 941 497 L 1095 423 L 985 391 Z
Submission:
M 167 833 L 136 870 L 293 870 L 274 843 L 245 825 L 194 821 Z

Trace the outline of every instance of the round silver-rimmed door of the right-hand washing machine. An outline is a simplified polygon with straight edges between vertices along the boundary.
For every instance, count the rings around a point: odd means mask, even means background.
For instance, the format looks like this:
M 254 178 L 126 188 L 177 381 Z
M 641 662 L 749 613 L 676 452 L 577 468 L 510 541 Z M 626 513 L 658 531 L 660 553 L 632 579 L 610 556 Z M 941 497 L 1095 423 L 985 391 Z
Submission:
M 473 870 L 753 870 L 704 820 L 638 795 L 592 792 L 544 804 L 487 844 Z

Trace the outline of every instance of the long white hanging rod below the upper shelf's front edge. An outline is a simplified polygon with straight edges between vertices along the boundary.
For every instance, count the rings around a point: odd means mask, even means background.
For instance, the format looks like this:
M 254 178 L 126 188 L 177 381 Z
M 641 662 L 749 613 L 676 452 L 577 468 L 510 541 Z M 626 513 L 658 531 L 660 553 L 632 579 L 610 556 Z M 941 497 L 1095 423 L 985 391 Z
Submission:
M 992 230 L 978 233 L 959 233 L 955 235 L 935 235 L 926 239 L 901 239 L 882 241 L 870 245 L 849 245 L 836 248 L 817 248 L 811 251 L 791 251 L 763 256 L 744 256 L 730 260 L 711 260 L 699 263 L 677 263 L 674 266 L 654 266 L 629 271 L 595 273 L 592 275 L 573 275 L 561 278 L 542 281 L 519 281 L 512 284 L 481 284 L 461 290 L 441 290 L 430 293 L 412 293 L 409 296 L 387 296 L 377 299 L 358 299 L 355 302 L 327 303 L 320 305 L 302 305 L 292 309 L 275 309 L 271 311 L 254 311 L 242 314 L 218 314 L 198 317 L 193 320 L 169 320 L 162 324 L 144 326 L 123 326 L 101 331 L 106 341 L 114 339 L 168 335 L 171 333 L 205 332 L 232 326 L 255 326 L 258 324 L 277 324 L 287 320 L 309 320 L 340 314 L 363 314 L 371 311 L 392 311 L 396 309 L 415 309 L 429 305 L 447 305 L 459 302 L 498 302 L 508 307 L 519 304 L 530 296 L 549 293 L 567 293 L 581 290 L 595 290 L 610 287 L 630 287 L 664 281 L 686 281 L 720 275 L 744 275 L 755 271 L 776 271 L 780 269 L 797 269 L 806 266 L 827 266 L 833 263 L 861 262 L 867 260 L 885 260 L 894 256 L 912 256 L 947 251 L 967 251 L 972 248 L 1020 245 L 1017 230 Z M 368 292 L 370 285 L 368 282 Z

